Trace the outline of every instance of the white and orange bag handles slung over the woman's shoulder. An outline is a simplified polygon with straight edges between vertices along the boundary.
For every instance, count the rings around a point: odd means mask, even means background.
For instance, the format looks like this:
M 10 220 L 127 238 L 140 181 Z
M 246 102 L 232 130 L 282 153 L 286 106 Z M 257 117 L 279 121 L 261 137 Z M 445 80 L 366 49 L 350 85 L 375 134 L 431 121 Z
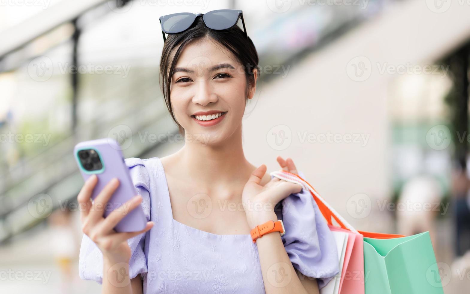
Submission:
M 334 218 L 335 221 L 341 226 L 341 228 L 350 230 L 353 233 L 359 234 L 357 230 L 355 230 L 351 224 L 349 224 L 341 215 L 339 215 L 336 210 L 331 207 L 325 199 L 323 199 L 320 194 L 318 194 L 315 189 L 313 189 L 312 185 L 307 183 L 304 179 L 302 179 L 299 175 L 292 174 L 286 170 L 279 170 L 279 171 L 274 171 L 271 172 L 270 175 L 275 176 L 276 178 L 279 178 L 281 180 L 291 182 L 291 183 L 296 183 L 301 185 L 305 190 L 310 191 L 310 194 L 312 194 L 313 199 L 317 203 L 318 207 L 320 208 L 321 214 L 323 217 L 326 219 L 329 225 L 333 225 L 331 218 Z

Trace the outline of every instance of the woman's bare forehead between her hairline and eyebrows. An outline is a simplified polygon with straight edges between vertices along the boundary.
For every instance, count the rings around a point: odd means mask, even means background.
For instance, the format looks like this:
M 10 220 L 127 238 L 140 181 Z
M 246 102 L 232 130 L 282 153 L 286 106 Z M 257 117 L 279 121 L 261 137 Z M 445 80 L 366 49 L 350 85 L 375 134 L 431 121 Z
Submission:
M 235 68 L 240 65 L 227 48 L 216 41 L 204 39 L 186 45 L 175 67 L 209 69 L 223 63 L 232 64 Z

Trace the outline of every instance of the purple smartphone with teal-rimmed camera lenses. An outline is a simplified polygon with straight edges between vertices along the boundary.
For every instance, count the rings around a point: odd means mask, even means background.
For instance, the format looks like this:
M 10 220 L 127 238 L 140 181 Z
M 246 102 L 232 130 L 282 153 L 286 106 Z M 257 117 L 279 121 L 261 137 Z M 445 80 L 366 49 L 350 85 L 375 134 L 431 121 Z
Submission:
M 103 207 L 104 217 L 138 194 L 116 140 L 104 138 L 81 142 L 75 145 L 73 153 L 85 181 L 93 174 L 98 176 L 98 183 L 96 183 L 92 194 L 93 199 L 112 178 L 116 177 L 119 180 L 118 189 L 114 191 L 111 199 Z M 117 232 L 139 231 L 145 229 L 146 224 L 147 218 L 144 211 L 141 206 L 138 206 L 129 211 L 114 227 L 114 230 Z

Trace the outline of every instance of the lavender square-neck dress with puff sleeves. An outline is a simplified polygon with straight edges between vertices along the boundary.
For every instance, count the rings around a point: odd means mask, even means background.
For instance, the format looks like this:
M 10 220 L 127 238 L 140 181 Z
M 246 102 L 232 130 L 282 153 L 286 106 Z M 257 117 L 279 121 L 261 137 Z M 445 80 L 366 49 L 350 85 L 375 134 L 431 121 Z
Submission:
M 125 159 L 142 207 L 154 227 L 128 240 L 129 274 L 141 274 L 143 293 L 265 293 L 256 244 L 247 235 L 217 235 L 173 219 L 159 158 Z M 299 173 L 303 177 L 302 173 Z M 293 266 L 321 287 L 338 273 L 336 245 L 309 191 L 282 200 L 282 242 Z M 102 253 L 83 236 L 80 278 L 102 284 Z

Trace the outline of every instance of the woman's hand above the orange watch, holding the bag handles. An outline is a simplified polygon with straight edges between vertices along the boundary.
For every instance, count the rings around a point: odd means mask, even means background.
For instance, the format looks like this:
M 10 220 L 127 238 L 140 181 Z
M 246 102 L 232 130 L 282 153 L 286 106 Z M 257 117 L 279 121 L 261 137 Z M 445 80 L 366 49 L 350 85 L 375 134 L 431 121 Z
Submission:
M 284 160 L 278 156 L 277 162 L 282 169 L 297 174 L 292 159 Z M 262 186 L 259 183 L 265 174 L 266 165 L 263 164 L 253 171 L 243 188 L 242 202 L 250 228 L 269 220 L 276 221 L 277 216 L 274 213 L 276 204 L 290 194 L 302 191 L 302 186 L 299 184 L 283 181 L 276 177 Z

